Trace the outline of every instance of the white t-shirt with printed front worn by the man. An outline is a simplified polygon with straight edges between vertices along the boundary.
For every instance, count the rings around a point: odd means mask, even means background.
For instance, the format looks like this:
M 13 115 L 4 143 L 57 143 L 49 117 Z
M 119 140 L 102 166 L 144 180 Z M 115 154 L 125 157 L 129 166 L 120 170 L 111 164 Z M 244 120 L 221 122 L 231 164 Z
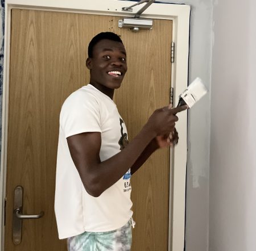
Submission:
M 67 137 L 82 132 L 101 132 L 101 161 L 120 152 L 127 143 L 127 129 L 117 106 L 92 85 L 72 93 L 60 112 L 55 190 L 60 239 L 85 231 L 112 231 L 125 225 L 133 215 L 130 170 L 100 196 L 86 192 L 67 144 Z

